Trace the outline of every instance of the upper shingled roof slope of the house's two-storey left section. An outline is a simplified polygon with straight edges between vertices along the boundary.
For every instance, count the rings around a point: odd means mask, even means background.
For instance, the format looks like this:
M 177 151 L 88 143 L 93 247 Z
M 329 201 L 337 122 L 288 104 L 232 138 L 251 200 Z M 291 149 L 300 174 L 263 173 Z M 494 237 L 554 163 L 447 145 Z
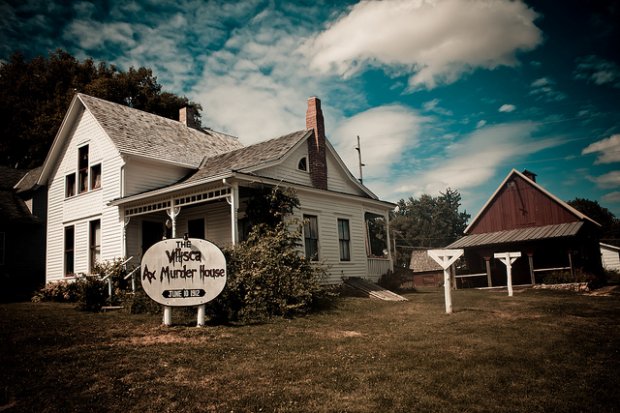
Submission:
M 79 93 L 119 152 L 198 168 L 205 156 L 243 148 L 237 138 Z

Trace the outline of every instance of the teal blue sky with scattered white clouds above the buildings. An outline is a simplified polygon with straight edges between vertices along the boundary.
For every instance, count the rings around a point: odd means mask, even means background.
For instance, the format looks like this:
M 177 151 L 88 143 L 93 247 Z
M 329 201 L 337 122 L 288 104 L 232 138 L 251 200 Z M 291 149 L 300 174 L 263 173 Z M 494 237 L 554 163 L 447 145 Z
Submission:
M 326 134 L 381 199 L 458 190 L 475 216 L 514 168 L 620 217 L 620 5 L 606 0 L 0 0 L 0 61 L 64 49 L 202 105 L 248 145 Z

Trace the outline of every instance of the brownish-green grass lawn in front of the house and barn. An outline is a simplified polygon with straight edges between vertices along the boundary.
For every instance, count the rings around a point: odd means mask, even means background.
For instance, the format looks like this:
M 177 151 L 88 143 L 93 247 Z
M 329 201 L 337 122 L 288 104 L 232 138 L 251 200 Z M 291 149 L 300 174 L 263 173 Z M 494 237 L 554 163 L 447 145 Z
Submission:
M 617 412 L 620 296 L 441 290 L 253 326 L 0 306 L 0 411 Z

